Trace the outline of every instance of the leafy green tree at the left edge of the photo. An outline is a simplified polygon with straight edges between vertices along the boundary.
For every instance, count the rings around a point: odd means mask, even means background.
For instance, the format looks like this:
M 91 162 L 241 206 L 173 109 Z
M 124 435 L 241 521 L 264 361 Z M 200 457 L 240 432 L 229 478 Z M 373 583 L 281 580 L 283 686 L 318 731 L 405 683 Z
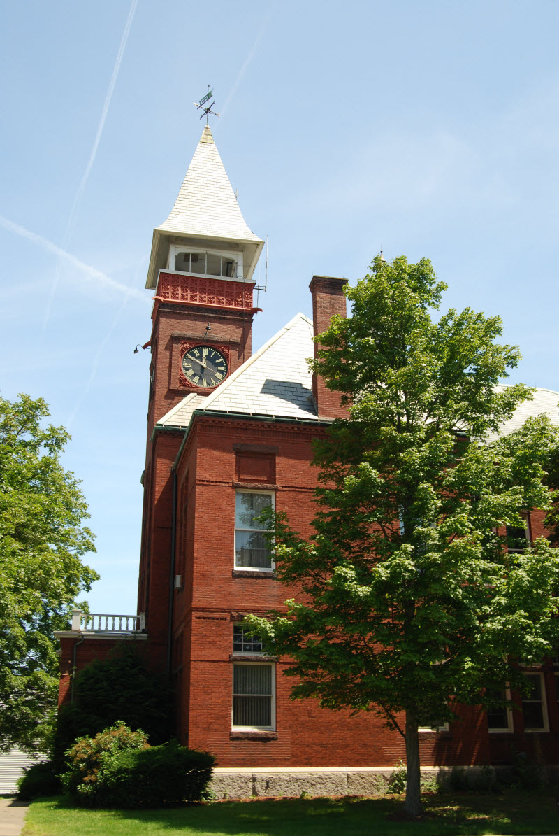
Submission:
M 94 535 L 79 481 L 60 454 L 64 427 L 43 427 L 44 400 L 0 398 L 0 751 L 46 745 L 58 695 L 54 630 L 98 579 L 81 557 Z

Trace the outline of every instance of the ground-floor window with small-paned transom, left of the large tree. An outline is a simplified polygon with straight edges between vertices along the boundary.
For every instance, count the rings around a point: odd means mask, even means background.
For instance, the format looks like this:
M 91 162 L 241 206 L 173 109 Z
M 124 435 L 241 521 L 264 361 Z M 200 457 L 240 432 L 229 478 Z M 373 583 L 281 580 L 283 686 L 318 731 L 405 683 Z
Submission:
M 236 654 L 242 654 L 242 661 L 235 660 Z M 235 626 L 232 728 L 273 731 L 276 726 L 275 665 L 265 660 L 252 661 L 250 655 L 262 655 L 262 641 Z

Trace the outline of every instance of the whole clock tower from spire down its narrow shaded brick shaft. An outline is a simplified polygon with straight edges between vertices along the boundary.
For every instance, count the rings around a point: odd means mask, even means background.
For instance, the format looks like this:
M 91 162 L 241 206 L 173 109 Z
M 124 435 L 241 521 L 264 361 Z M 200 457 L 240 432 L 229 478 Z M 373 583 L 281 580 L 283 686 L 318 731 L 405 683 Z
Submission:
M 184 438 L 184 428 L 161 419 L 188 395 L 206 400 L 250 358 L 253 274 L 263 243 L 246 226 L 206 125 L 175 206 L 154 230 L 145 284 L 154 306 L 138 612 L 149 620 L 150 656 L 160 669 L 169 661 L 173 467 Z

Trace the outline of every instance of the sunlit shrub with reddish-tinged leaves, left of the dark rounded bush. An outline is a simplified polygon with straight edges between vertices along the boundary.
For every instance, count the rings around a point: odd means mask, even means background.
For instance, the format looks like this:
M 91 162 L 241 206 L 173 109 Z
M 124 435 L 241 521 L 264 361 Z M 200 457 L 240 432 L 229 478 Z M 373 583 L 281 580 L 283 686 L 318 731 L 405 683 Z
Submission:
M 132 732 L 123 722 L 104 729 L 92 739 L 79 737 L 66 752 L 68 771 L 62 776 L 64 789 L 75 795 L 80 787 L 94 785 L 104 756 L 149 747 L 144 732 Z

